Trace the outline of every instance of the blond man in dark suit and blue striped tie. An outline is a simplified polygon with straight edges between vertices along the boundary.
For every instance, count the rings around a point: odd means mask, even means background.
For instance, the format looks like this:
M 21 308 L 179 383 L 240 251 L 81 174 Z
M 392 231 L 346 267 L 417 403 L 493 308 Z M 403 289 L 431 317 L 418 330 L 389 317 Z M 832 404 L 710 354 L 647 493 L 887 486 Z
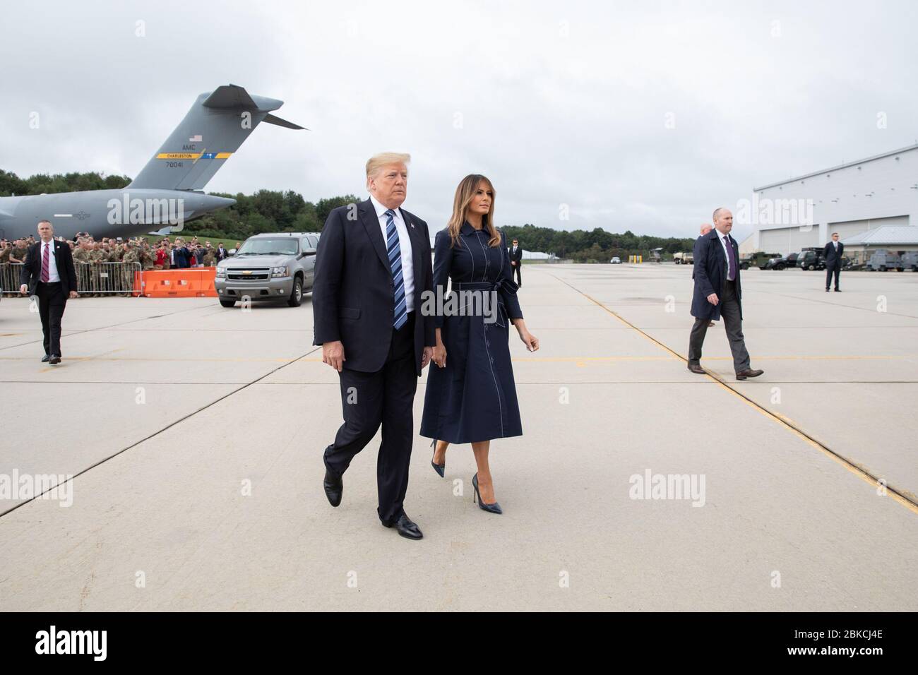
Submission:
M 325 221 L 312 289 L 313 344 L 322 345 L 322 362 L 338 371 L 341 382 L 344 423 L 324 455 L 330 504 L 341 503 L 341 476 L 381 424 L 376 512 L 386 527 L 420 539 L 403 504 L 414 395 L 436 340 L 433 317 L 420 312 L 422 294 L 433 292 L 427 223 L 400 208 L 409 160 L 395 152 L 370 158 L 370 198 L 335 208 Z

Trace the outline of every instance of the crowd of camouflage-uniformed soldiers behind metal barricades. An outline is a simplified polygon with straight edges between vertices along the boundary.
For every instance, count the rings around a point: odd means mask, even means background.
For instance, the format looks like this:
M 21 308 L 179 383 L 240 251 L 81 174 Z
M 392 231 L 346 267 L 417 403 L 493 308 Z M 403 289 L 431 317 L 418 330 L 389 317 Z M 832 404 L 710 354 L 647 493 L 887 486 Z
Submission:
M 170 241 L 169 237 L 163 237 L 152 243 L 145 237 L 103 237 L 95 241 L 91 234 L 79 232 L 73 240 L 59 240 L 70 244 L 80 295 L 90 297 L 129 297 L 135 287 L 134 274 L 137 271 L 176 266 L 207 267 L 217 264 L 223 257 L 218 253 L 218 250 L 223 250 L 222 242 L 214 247 L 210 242 L 198 241 L 197 237 L 190 241 L 182 237 Z M 4 291 L 18 288 L 19 268 L 14 265 L 26 262 L 28 247 L 36 241 L 31 236 L 15 241 L 0 239 L 0 283 Z M 175 264 L 176 251 L 181 253 L 179 264 Z

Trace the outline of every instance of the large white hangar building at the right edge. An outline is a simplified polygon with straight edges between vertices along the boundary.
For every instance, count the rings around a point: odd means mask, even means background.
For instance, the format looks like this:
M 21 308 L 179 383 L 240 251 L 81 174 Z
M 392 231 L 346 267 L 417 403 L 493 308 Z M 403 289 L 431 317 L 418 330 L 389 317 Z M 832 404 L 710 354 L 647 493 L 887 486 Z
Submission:
M 812 227 L 800 225 L 808 200 L 805 222 Z M 801 205 L 795 219 L 778 218 L 779 208 L 769 216 L 767 205 L 783 204 L 787 215 L 788 203 Z M 756 187 L 749 207 L 754 231 L 740 247 L 744 254 L 824 246 L 833 232 L 845 242 L 845 254 L 918 251 L 918 144 Z

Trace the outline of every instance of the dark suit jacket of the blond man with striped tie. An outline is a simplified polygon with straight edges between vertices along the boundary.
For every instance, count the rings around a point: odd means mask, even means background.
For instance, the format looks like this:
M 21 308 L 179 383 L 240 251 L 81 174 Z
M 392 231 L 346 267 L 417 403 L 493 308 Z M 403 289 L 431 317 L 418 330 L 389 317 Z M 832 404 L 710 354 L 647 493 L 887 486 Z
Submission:
M 386 364 L 395 315 L 392 271 L 373 202 L 335 208 L 325 221 L 312 287 L 313 344 L 341 340 L 343 367 L 374 373 Z M 398 209 L 411 240 L 414 267 L 415 371 L 425 346 L 435 344 L 433 317 L 421 315 L 422 293 L 433 291 L 427 223 Z M 350 216 L 350 217 L 349 217 Z

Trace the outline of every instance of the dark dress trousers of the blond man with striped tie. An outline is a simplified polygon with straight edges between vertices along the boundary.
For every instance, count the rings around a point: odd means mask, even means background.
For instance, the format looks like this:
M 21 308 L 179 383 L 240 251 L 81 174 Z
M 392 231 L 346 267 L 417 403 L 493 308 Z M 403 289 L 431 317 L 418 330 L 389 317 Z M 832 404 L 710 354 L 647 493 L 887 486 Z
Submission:
M 414 316 L 392 330 L 386 364 L 375 373 L 341 369 L 341 410 L 344 423 L 335 442 L 325 449 L 325 466 L 338 476 L 383 427 L 383 440 L 376 456 L 376 488 L 383 523 L 394 523 L 403 512 L 408 491 L 411 444 L 414 437 L 414 395 L 418 376 L 414 364 Z M 345 358 L 347 353 L 344 354 Z

